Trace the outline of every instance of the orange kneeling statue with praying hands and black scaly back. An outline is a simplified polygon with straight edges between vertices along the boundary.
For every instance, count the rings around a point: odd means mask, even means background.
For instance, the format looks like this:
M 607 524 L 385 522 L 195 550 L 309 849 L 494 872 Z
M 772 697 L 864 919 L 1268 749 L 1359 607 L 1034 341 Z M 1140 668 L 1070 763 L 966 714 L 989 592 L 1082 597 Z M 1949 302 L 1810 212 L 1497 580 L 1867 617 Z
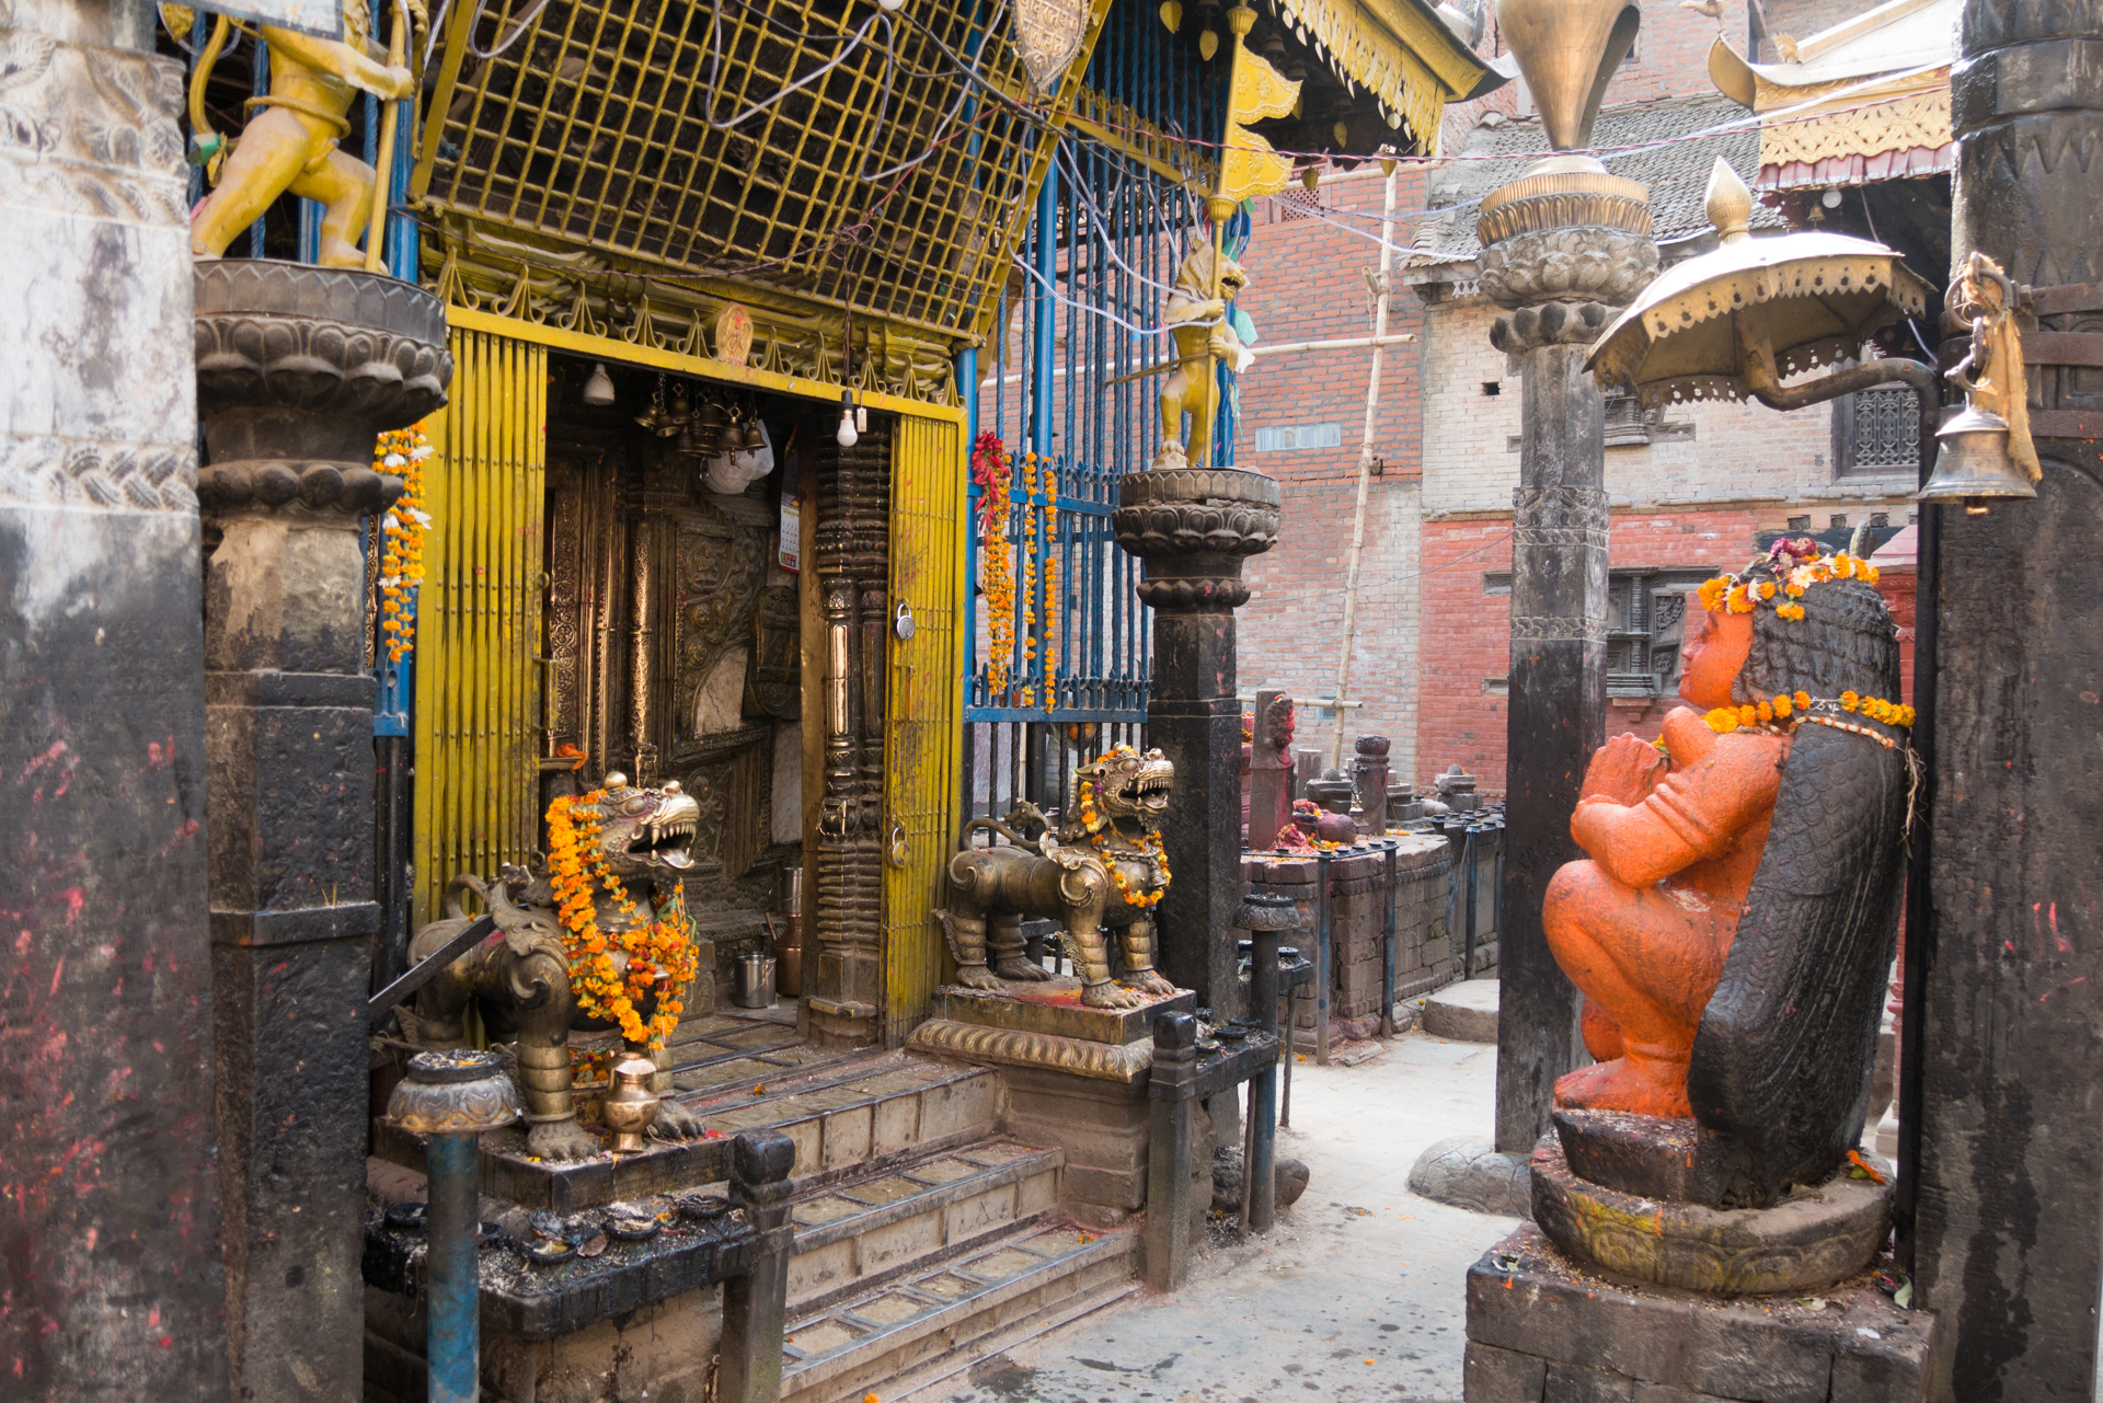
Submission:
M 1590 860 L 1544 907 L 1596 1058 L 1556 1081 L 1558 1106 L 1691 1115 L 1771 1161 L 1764 1180 L 1861 1134 L 1912 724 L 1874 578 L 1783 541 L 1710 581 L 1682 654 L 1693 707 L 1657 745 L 1592 757 L 1571 816 Z

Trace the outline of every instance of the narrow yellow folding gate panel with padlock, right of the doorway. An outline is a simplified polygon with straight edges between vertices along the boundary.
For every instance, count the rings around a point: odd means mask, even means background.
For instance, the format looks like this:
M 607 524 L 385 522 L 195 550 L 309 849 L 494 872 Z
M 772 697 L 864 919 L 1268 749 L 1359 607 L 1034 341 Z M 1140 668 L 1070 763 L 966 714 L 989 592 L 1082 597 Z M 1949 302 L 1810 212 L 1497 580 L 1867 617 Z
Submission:
M 892 454 L 892 608 L 913 637 L 890 639 L 883 738 L 883 1041 L 898 1045 L 927 1016 L 942 982 L 944 869 L 961 822 L 963 759 L 963 425 L 898 421 Z

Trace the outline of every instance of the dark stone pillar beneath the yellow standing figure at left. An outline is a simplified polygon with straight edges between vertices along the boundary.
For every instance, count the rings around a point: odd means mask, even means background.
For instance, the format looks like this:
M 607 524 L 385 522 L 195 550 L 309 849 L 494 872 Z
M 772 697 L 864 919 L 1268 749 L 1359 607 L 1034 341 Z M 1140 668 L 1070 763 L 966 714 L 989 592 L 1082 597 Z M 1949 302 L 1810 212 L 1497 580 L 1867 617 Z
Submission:
M 446 400 L 446 311 L 376 273 L 200 263 L 196 353 L 227 1359 L 238 1399 L 355 1403 L 381 926 L 358 517 L 402 494 L 376 433 Z

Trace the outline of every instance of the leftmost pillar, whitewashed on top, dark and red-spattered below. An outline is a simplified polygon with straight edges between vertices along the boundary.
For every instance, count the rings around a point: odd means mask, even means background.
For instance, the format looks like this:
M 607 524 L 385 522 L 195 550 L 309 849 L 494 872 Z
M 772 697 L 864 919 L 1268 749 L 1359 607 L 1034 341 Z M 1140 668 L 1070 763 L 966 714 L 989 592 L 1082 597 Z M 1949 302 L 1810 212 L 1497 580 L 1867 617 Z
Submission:
M 0 48 L 0 1395 L 225 1399 L 183 65 Z

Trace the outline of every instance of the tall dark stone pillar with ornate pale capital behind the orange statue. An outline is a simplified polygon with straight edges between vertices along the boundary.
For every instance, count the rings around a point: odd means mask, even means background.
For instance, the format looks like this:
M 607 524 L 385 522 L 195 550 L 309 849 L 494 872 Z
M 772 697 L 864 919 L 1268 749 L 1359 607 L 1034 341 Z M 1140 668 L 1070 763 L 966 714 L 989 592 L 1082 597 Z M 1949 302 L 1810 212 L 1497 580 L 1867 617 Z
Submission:
M 1546 166 L 1546 170 L 1541 170 Z M 1586 168 L 1594 166 L 1594 168 Z M 1647 191 L 1550 158 L 1483 200 L 1483 292 L 1512 316 L 1491 343 L 1523 377 L 1512 492 L 1512 696 L 1506 711 L 1497 1148 L 1529 1155 L 1577 1062 L 1577 989 L 1541 934 L 1541 898 L 1584 856 L 1569 822 L 1607 740 L 1607 427 L 1590 341 L 1657 271 Z

